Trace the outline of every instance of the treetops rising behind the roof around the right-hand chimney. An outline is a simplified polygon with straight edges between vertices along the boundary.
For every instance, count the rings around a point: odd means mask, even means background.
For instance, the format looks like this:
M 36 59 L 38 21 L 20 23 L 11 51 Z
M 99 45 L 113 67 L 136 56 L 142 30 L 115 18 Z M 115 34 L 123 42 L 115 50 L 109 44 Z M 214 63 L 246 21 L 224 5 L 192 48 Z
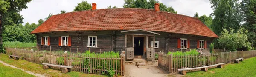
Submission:
M 154 9 L 155 3 L 159 3 L 155 0 L 125 0 L 123 5 L 124 8 L 144 8 L 144 9 Z M 167 7 L 163 3 L 159 3 L 160 11 L 167 11 L 171 13 L 177 13 L 172 7 Z

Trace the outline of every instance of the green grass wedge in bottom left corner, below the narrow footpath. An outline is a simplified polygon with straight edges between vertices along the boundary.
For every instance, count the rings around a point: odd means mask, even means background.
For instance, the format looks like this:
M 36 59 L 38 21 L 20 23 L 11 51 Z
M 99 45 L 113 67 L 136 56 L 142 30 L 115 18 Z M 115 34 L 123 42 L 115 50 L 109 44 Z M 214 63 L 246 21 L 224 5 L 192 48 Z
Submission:
M 28 74 L 20 69 L 5 66 L 2 63 L 0 63 L 0 77 L 35 77 L 35 76 Z

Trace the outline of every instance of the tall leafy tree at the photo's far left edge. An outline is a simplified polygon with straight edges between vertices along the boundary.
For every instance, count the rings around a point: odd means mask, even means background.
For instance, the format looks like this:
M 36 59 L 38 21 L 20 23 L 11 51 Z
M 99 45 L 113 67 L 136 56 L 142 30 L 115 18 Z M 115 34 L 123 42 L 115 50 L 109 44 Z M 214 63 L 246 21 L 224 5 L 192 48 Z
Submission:
M 20 11 L 28 8 L 26 3 L 30 1 L 31 0 L 0 1 L 0 46 L 3 44 L 2 31 L 5 31 L 5 28 L 13 29 L 15 26 L 19 26 L 17 24 L 23 23 L 23 17 L 20 15 Z

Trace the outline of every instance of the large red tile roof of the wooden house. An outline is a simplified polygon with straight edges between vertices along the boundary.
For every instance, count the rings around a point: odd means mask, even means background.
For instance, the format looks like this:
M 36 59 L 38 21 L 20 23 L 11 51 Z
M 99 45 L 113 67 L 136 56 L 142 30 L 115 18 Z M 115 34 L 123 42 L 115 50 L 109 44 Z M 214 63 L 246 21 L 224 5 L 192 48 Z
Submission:
M 199 36 L 218 36 L 195 17 L 153 9 L 118 8 L 76 11 L 53 15 L 31 34 L 55 31 L 144 29 Z

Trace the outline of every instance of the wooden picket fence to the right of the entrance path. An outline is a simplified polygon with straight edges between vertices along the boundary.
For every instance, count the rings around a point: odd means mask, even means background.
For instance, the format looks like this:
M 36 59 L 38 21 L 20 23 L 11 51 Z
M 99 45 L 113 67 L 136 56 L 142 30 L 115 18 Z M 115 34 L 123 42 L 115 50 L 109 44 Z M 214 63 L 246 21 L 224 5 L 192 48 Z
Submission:
M 175 73 L 180 68 L 195 68 L 209 66 L 218 63 L 233 63 L 233 60 L 243 57 L 244 59 L 255 57 L 256 50 L 220 52 L 206 55 L 169 55 L 158 53 L 158 66 L 164 70 Z

